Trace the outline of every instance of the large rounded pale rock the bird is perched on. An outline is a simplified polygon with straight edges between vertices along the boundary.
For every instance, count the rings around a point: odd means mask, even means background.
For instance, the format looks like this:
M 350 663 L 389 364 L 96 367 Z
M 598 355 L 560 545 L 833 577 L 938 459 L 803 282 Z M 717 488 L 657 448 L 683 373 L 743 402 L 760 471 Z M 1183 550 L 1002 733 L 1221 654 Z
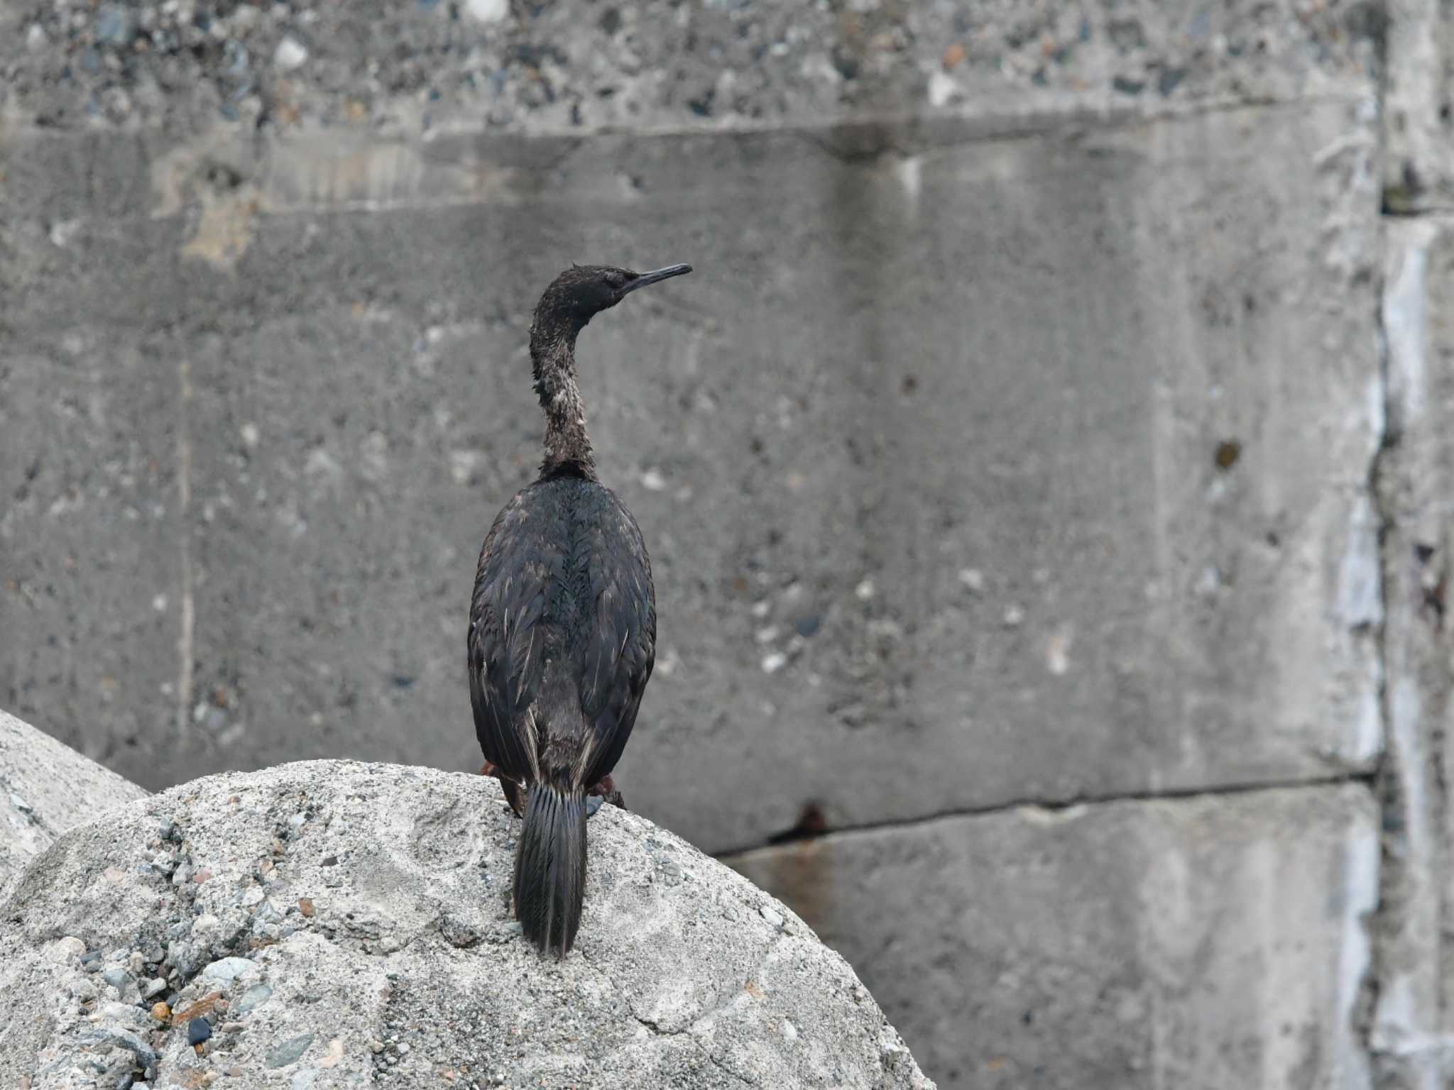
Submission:
M 797 916 L 634 814 L 539 958 L 516 828 L 493 780 L 350 762 L 81 825 L 0 905 L 0 1086 L 932 1086 Z

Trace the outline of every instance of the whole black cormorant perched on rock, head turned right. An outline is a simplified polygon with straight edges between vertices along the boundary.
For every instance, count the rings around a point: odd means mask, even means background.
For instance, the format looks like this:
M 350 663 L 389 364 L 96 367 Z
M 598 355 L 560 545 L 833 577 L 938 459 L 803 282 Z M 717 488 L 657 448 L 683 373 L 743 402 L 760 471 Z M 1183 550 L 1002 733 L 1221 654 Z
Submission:
M 586 818 L 602 799 L 622 805 L 611 770 L 656 663 L 651 561 L 631 512 L 596 478 L 576 336 L 637 288 L 691 270 L 571 266 L 545 289 L 531 323 L 545 461 L 496 517 L 474 577 L 467 642 L 483 772 L 525 818 L 515 916 L 560 958 L 580 926 Z

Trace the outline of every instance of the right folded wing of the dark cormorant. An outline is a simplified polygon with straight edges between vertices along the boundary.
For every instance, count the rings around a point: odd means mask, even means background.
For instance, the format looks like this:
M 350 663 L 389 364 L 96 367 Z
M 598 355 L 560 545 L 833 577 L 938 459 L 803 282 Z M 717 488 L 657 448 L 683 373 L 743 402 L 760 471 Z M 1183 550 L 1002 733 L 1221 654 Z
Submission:
M 587 573 L 595 626 L 585 645 L 580 708 L 593 732 L 585 785 L 621 760 L 656 664 L 656 590 L 635 519 L 612 494 L 593 530 Z

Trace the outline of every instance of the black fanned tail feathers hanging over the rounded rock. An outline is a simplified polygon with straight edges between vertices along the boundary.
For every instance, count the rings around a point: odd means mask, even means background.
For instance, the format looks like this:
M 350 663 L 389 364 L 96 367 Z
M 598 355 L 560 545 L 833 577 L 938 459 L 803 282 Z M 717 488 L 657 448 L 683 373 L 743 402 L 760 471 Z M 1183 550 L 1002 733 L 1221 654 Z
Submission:
M 585 895 L 585 791 L 531 783 L 515 853 L 515 919 L 525 937 L 542 953 L 564 958 L 580 927 Z

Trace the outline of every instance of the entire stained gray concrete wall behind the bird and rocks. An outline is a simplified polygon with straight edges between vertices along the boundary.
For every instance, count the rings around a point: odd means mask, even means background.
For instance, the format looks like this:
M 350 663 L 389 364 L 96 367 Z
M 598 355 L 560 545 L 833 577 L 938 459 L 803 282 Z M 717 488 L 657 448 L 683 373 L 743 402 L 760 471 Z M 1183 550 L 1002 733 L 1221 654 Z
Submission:
M 628 802 L 944 1086 L 1438 1077 L 1435 6 L 3 17 L 0 703 L 471 767 L 529 308 L 691 260 L 580 346 Z

